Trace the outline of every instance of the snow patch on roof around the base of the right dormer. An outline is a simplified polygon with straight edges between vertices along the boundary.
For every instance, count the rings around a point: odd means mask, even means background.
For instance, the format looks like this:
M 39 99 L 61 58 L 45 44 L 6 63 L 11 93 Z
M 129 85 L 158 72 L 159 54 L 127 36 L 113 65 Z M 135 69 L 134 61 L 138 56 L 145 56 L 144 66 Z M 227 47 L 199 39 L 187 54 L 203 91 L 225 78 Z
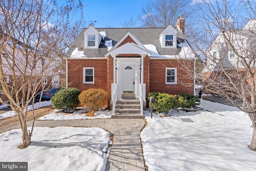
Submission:
M 195 54 L 192 50 L 192 48 L 190 48 L 190 46 L 187 43 L 181 43 L 178 44 L 178 46 L 181 49 L 180 54 L 179 55 L 160 55 L 156 49 L 156 46 L 154 46 L 153 44 L 146 44 L 143 45 L 145 46 L 145 48 L 147 48 L 148 52 L 150 52 L 151 57 L 159 57 L 159 58 L 173 58 L 173 59 L 177 59 L 177 58 L 186 58 L 186 59 L 191 59 L 191 58 L 195 58 Z

